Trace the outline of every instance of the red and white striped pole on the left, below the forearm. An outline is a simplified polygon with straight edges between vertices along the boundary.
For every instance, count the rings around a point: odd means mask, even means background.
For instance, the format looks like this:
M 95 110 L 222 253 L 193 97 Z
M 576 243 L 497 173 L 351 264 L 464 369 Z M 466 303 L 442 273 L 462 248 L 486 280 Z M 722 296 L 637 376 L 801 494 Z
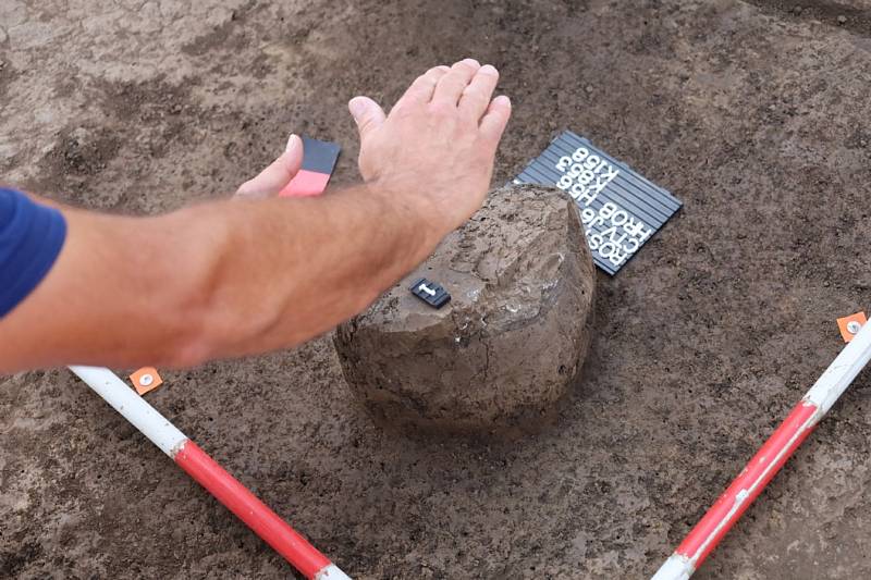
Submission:
M 230 511 L 310 580 L 351 580 L 109 369 L 70 367 Z

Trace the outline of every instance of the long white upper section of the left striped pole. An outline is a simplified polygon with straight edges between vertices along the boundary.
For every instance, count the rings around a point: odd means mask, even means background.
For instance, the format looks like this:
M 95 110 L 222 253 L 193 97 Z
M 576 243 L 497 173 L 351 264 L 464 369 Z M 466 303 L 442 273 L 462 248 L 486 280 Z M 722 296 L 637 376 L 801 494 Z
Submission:
M 106 403 L 111 405 L 124 419 L 133 423 L 160 451 L 174 459 L 182 444 L 187 441 L 169 420 L 160 415 L 146 400 L 136 394 L 124 381 L 110 371 L 99 367 L 70 367 Z

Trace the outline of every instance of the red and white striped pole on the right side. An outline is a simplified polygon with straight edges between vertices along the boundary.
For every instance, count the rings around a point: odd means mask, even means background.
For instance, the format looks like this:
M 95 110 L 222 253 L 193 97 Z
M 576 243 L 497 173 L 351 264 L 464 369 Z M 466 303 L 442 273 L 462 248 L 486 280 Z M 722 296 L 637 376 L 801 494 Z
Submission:
M 692 528 L 652 580 L 687 580 L 692 576 L 868 365 L 869 359 L 871 324 L 866 324 L 745 466 L 732 485 Z

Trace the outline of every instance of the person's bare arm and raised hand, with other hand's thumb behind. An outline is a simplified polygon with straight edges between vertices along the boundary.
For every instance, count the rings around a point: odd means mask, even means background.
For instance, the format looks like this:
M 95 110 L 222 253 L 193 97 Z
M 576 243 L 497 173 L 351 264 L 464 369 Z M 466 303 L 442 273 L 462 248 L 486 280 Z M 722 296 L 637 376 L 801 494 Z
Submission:
M 495 83 L 464 61 L 419 77 L 390 116 L 352 100 L 367 183 L 336 194 L 152 218 L 64 209 L 54 268 L 0 320 L 0 372 L 191 366 L 293 346 L 361 311 L 480 207 L 511 112 L 490 100 Z M 240 194 L 280 189 L 295 171 L 281 161 Z

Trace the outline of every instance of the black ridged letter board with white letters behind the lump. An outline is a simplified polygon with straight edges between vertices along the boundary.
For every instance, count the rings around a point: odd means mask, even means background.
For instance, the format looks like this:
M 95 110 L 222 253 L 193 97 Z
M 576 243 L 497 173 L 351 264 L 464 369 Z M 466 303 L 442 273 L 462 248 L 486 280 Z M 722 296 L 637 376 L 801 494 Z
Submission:
M 571 131 L 556 137 L 515 180 L 556 186 L 580 209 L 596 266 L 617 273 L 683 203 Z

